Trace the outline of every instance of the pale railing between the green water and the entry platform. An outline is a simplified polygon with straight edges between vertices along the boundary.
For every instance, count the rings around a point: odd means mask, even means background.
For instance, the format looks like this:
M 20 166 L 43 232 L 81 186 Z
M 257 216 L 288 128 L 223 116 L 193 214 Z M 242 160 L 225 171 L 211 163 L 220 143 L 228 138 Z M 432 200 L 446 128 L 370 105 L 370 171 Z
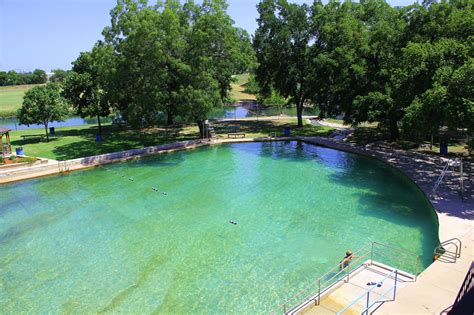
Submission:
M 385 251 L 383 249 L 385 249 Z M 387 253 L 387 249 L 390 253 Z M 392 254 L 392 252 L 394 253 Z M 417 280 L 419 273 L 419 257 L 410 251 L 378 242 L 371 242 L 355 251 L 353 256 L 354 258 L 351 260 L 349 266 L 344 268 L 342 267 L 342 263 L 339 262 L 328 272 L 317 278 L 315 281 L 311 282 L 308 286 L 300 290 L 286 302 L 278 305 L 272 314 L 295 313 L 301 308 L 303 304 L 307 305 L 307 303 L 311 302 L 313 302 L 314 305 L 319 305 L 321 302 L 321 295 L 324 294 L 330 287 L 340 281 L 347 283 L 353 271 L 364 265 L 367 260 L 370 260 L 370 264 L 373 264 L 375 258 L 377 258 L 377 261 L 382 263 L 388 262 L 393 265 L 395 262 L 395 264 L 401 266 L 407 265 L 406 259 L 408 257 L 413 258 L 415 269 L 415 277 L 413 280 Z

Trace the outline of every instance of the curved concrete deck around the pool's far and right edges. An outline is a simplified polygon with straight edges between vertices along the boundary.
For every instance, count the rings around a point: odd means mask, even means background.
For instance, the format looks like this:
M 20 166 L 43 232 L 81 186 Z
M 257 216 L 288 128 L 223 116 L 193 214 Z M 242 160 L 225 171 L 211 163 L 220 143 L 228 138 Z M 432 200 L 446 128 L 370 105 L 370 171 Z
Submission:
M 222 143 L 285 140 L 299 140 L 305 143 L 377 158 L 402 171 L 411 178 L 427 196 L 429 196 L 431 189 L 446 164 L 446 160 L 439 157 L 384 147 L 362 146 L 323 137 L 243 138 L 218 139 L 216 141 L 195 140 L 68 161 L 50 160 L 46 165 L 0 171 L 0 184 L 64 174 L 69 171 L 92 168 L 103 164 L 202 146 Z M 420 275 L 418 282 L 410 283 L 400 290 L 396 302 L 382 305 L 377 312 L 392 314 L 407 312 L 433 314 L 440 313 L 454 302 L 468 270 L 468 266 L 474 259 L 473 165 L 471 162 L 465 163 L 464 165 L 465 192 L 463 198 L 459 195 L 459 174 L 449 172 L 446 174 L 443 183 L 439 186 L 436 198 L 430 199 L 438 215 L 440 241 L 454 237 L 461 239 L 463 244 L 461 258 L 458 259 L 456 263 L 447 263 L 441 260 L 436 261 Z

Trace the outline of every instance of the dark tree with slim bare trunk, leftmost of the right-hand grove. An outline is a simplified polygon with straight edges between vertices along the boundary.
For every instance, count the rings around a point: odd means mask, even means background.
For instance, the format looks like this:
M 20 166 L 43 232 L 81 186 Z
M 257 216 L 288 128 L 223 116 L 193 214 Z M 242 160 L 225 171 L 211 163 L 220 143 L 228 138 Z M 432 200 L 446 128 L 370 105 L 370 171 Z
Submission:
M 309 45 L 312 40 L 306 4 L 286 0 L 263 0 L 255 32 L 257 81 L 264 95 L 271 88 L 296 104 L 298 126 L 303 126 L 303 106 L 309 99 Z

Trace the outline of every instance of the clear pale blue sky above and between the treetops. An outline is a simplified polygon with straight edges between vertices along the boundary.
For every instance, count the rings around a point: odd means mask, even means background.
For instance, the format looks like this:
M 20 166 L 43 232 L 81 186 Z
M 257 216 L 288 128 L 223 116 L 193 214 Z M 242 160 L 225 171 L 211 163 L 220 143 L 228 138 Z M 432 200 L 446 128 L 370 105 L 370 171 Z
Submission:
M 102 39 L 116 0 L 0 0 L 0 70 L 70 69 Z M 155 1 L 149 0 L 149 3 Z M 235 25 L 253 34 L 258 0 L 228 0 Z M 289 0 L 312 3 L 312 0 Z M 415 0 L 388 0 L 405 6 Z

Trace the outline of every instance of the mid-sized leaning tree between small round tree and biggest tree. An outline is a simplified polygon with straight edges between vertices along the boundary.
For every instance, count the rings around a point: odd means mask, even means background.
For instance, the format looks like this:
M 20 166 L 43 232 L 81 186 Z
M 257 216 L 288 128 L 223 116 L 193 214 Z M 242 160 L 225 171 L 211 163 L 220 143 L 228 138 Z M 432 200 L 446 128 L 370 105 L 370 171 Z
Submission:
M 101 117 L 110 115 L 110 104 L 101 76 L 105 55 L 110 50 L 101 44 L 92 52 L 84 52 L 73 62 L 72 70 L 64 80 L 64 97 L 71 102 L 82 118 L 97 117 L 99 134 L 102 135 Z M 109 55 L 110 56 L 110 55 Z

